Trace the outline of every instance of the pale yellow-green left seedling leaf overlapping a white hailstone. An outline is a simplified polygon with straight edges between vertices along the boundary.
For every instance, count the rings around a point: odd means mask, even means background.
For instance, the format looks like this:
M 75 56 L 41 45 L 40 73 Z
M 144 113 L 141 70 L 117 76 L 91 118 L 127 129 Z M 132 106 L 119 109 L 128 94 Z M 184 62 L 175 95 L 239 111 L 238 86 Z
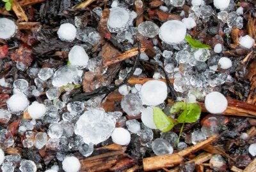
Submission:
M 154 111 L 154 122 L 157 129 L 162 132 L 170 131 L 175 126 L 175 121 L 165 115 L 165 113 L 158 107 L 153 108 Z

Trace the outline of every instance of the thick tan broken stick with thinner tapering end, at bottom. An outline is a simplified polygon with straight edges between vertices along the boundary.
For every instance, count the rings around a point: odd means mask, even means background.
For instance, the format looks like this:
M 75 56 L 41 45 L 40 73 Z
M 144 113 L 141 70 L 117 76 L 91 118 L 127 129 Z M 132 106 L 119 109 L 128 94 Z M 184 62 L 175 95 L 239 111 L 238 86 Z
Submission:
M 184 156 L 189 155 L 193 152 L 196 152 L 201 148 L 204 148 L 205 145 L 211 144 L 213 141 L 216 141 L 218 137 L 219 136 L 217 134 L 213 135 L 210 138 L 207 138 L 207 140 L 204 140 L 196 145 L 193 145 L 191 147 L 185 148 L 184 150 L 181 150 L 177 154 L 160 155 L 156 157 L 144 158 L 143 169 L 145 171 L 151 171 L 151 170 L 161 169 L 161 168 L 170 168 L 174 165 L 180 164 L 183 161 Z

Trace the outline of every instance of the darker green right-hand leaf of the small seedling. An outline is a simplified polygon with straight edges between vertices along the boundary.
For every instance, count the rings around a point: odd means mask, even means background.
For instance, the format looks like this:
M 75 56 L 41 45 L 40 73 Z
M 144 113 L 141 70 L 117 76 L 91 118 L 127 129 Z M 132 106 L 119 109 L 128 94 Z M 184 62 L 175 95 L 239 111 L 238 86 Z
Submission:
M 180 123 L 184 122 L 196 122 L 200 118 L 201 107 L 197 103 L 188 103 L 186 108 L 177 118 L 177 121 Z

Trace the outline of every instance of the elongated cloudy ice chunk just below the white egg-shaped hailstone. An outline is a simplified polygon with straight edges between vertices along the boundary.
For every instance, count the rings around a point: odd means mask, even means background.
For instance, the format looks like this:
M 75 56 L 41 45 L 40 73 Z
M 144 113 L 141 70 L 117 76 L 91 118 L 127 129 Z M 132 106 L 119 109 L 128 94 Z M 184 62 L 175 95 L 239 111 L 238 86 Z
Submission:
M 76 66 L 63 66 L 54 73 L 52 77 L 52 85 L 55 87 L 61 87 L 63 85 L 67 85 L 67 83 L 72 83 L 78 74 L 79 70 Z

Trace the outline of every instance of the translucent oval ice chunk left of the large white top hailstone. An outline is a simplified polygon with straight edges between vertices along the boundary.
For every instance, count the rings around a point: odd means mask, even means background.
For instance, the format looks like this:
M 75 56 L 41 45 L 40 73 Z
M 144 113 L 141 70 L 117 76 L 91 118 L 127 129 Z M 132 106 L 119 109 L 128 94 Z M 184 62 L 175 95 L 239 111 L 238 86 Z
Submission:
M 154 22 L 146 21 L 138 25 L 138 31 L 143 36 L 154 38 L 159 32 L 159 27 Z

